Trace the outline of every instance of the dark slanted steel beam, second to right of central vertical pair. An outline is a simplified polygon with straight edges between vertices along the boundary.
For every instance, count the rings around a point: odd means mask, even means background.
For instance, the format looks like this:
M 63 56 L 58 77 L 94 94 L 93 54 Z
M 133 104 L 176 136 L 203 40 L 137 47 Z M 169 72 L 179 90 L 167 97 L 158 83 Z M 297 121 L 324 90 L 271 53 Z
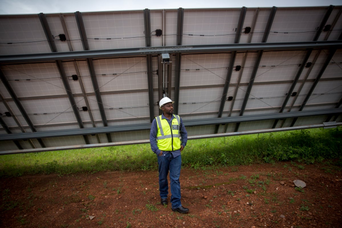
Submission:
M 268 16 L 268 20 L 267 20 L 267 24 L 266 24 L 266 27 L 265 27 L 264 36 L 263 36 L 262 41 L 261 41 L 262 43 L 266 43 L 266 41 L 267 41 L 267 38 L 268 38 L 268 35 L 269 35 L 269 31 L 271 30 L 271 26 L 272 26 L 272 23 L 273 23 L 276 11 L 277 11 L 277 7 L 273 6 L 272 9 L 271 9 L 271 13 Z M 248 102 L 248 97 L 249 97 L 249 95 L 251 93 L 252 86 L 253 86 L 253 83 L 254 83 L 254 79 L 257 76 L 257 71 L 259 69 L 259 65 L 260 65 L 262 54 L 263 54 L 263 50 L 258 51 L 257 60 L 254 63 L 254 67 L 253 67 L 253 70 L 252 70 L 252 73 L 251 73 L 251 78 L 249 80 L 249 84 L 247 86 L 247 90 L 246 90 L 246 93 L 245 93 L 245 98 L 244 98 L 244 101 L 242 102 L 242 105 L 241 105 L 240 114 L 239 114 L 240 116 L 244 115 L 245 108 L 246 108 L 246 105 L 247 105 L 247 102 Z M 240 126 L 240 123 L 236 123 L 236 125 L 235 125 L 235 132 L 238 131 L 239 126 Z

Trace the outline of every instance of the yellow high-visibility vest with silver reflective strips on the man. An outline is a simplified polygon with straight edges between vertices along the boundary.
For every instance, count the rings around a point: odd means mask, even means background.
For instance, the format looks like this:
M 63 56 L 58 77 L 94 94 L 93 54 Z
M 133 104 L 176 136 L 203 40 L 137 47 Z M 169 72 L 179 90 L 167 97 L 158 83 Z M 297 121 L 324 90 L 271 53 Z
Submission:
M 181 148 L 180 117 L 173 115 L 171 127 L 166 119 L 161 119 L 161 115 L 156 117 L 157 120 L 157 146 L 162 151 L 174 151 Z

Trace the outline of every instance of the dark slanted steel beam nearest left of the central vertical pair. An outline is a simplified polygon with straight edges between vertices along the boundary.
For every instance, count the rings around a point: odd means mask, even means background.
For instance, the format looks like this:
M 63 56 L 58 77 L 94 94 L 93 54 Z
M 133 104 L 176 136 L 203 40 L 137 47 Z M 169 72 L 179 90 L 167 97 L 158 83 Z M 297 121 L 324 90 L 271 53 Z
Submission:
M 79 11 L 77 11 L 77 12 L 75 12 L 75 17 L 76 17 L 78 30 L 79 30 L 79 33 L 81 36 L 83 49 L 85 51 L 88 51 L 89 50 L 89 44 L 88 44 L 88 39 L 87 39 L 87 35 L 86 35 L 86 29 L 84 28 L 84 24 L 83 24 L 82 15 Z M 103 107 L 103 102 L 102 102 L 102 98 L 101 98 L 101 94 L 100 94 L 100 88 L 98 87 L 95 68 L 94 68 L 92 58 L 90 58 L 90 57 L 87 58 L 87 64 L 88 64 L 88 68 L 89 68 L 91 82 L 93 84 L 93 89 L 95 92 L 95 97 L 96 97 L 98 109 L 100 110 L 102 123 L 103 123 L 103 126 L 107 127 L 108 126 L 107 118 L 106 118 L 106 114 L 105 114 L 105 109 Z M 108 143 L 111 143 L 112 139 L 111 139 L 110 133 L 106 133 L 106 136 L 107 136 Z

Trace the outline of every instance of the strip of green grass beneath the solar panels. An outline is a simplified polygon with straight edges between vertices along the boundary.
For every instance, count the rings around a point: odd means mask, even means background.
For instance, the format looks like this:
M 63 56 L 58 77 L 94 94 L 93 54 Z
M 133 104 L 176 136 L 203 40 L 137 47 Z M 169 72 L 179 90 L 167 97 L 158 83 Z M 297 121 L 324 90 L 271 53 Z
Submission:
M 342 128 L 311 129 L 189 140 L 182 165 L 194 169 L 252 163 L 291 161 L 328 162 L 342 166 Z M 0 177 L 26 174 L 96 173 L 99 171 L 156 170 L 149 144 L 47 151 L 0 156 Z M 236 169 L 236 168 L 235 168 Z M 252 179 L 257 179 L 253 176 Z M 105 187 L 105 184 L 104 184 Z

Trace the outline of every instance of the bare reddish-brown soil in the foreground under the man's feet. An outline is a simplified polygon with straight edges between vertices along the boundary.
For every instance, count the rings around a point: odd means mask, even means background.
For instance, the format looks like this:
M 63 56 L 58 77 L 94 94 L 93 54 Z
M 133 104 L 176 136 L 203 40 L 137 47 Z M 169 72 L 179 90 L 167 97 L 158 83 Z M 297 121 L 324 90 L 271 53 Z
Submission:
M 306 183 L 295 189 L 293 180 Z M 160 204 L 157 171 L 2 178 L 0 227 L 329 227 L 341 170 L 298 163 L 182 169 L 188 214 Z M 169 196 L 170 200 L 170 196 Z

